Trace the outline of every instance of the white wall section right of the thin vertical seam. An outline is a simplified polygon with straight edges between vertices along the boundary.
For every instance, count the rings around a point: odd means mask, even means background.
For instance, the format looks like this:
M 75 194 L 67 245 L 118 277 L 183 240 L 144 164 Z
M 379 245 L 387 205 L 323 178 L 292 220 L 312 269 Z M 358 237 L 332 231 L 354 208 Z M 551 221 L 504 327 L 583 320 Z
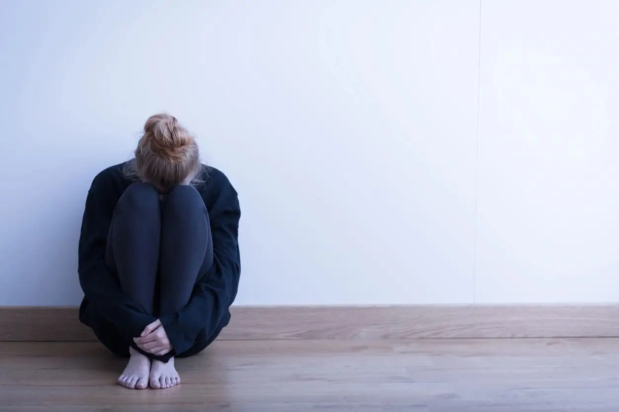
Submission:
M 478 302 L 619 301 L 617 15 L 483 2 Z

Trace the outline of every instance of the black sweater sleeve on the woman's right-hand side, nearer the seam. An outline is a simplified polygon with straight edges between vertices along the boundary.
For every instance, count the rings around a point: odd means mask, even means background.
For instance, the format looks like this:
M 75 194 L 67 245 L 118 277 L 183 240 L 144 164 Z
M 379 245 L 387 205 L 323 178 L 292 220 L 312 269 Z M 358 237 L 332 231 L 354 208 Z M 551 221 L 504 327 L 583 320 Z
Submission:
M 206 329 L 211 336 L 227 315 L 238 290 L 241 273 L 238 224 L 241 209 L 236 191 L 229 182 L 220 190 L 209 209 L 214 261 L 201 282 L 194 287 L 187 306 L 161 322 L 176 353 L 191 348 L 197 335 Z

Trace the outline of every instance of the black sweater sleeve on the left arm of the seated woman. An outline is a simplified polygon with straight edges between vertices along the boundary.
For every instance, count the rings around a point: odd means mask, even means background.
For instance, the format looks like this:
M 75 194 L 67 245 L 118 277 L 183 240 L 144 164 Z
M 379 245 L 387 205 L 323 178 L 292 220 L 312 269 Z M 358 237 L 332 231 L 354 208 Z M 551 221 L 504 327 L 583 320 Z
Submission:
M 116 201 L 100 177 L 86 198 L 78 246 L 79 282 L 89 305 L 131 337 L 139 336 L 156 320 L 121 291 L 118 277 L 105 264 L 108 232 Z

